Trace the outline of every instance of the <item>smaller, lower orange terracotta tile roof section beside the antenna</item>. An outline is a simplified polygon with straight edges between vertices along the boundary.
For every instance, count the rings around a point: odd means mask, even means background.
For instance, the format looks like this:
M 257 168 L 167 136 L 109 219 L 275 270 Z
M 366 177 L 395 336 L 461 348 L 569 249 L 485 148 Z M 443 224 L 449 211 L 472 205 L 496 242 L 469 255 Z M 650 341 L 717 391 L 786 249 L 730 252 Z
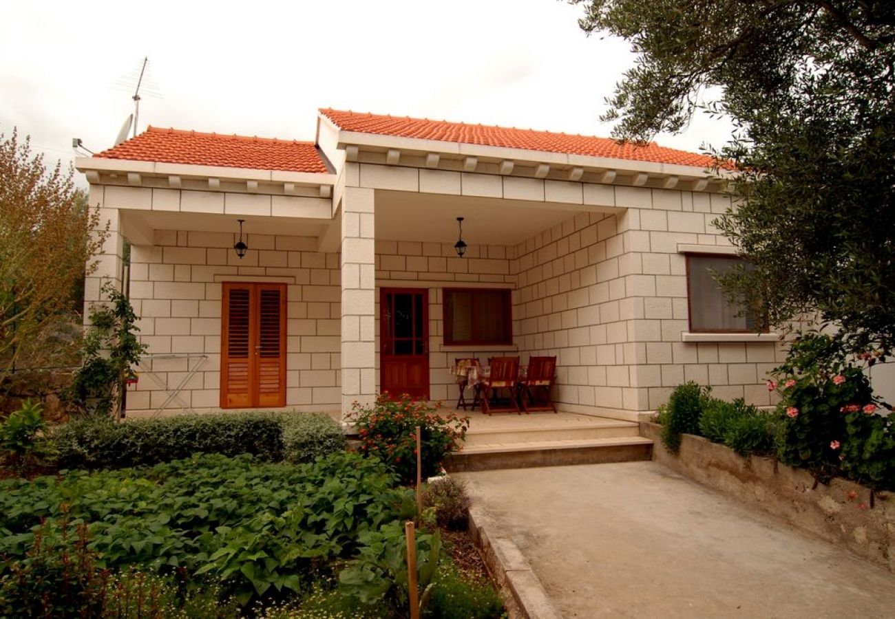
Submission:
M 149 127 L 132 140 L 104 150 L 95 157 L 255 170 L 329 172 L 313 142 L 157 127 Z

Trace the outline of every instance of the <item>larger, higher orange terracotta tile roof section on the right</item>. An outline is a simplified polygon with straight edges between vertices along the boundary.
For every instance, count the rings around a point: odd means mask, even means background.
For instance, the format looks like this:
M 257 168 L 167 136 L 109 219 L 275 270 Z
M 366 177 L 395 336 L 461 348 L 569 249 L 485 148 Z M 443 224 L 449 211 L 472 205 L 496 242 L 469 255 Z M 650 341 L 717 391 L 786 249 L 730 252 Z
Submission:
M 647 145 L 619 144 L 616 140 L 588 135 L 510 129 L 483 124 L 448 123 L 447 121 L 430 121 L 406 116 L 343 112 L 328 108 L 320 109 L 320 114 L 336 123 L 340 129 L 359 133 L 376 133 L 401 138 L 420 138 L 503 148 L 523 148 L 589 157 L 652 161 L 660 164 L 696 165 L 703 168 L 711 166 L 713 161 L 712 157 L 706 155 L 661 147 L 655 142 L 650 142 Z

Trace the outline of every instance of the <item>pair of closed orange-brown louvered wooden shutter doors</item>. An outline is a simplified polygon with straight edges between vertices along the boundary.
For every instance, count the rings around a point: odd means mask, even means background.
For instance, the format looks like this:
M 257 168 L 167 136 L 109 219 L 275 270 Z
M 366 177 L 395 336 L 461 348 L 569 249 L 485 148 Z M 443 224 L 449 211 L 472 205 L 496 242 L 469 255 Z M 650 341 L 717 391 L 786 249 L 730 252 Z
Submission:
M 221 408 L 286 406 L 286 284 L 223 284 Z

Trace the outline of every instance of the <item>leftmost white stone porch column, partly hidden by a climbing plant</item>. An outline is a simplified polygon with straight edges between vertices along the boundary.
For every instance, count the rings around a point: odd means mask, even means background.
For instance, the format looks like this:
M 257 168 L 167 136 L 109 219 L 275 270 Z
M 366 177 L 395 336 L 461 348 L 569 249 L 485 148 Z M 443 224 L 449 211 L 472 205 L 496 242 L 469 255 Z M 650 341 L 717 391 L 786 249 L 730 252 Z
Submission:
M 100 290 L 102 284 L 112 282 L 115 290 L 122 289 L 122 263 L 124 256 L 124 235 L 121 233 L 121 214 L 117 208 L 107 208 L 105 205 L 105 187 L 90 185 L 90 208 L 99 208 L 98 229 L 91 234 L 99 235 L 106 230 L 108 224 L 108 236 L 103 242 L 98 254 L 88 261 L 88 265 L 95 263 L 96 269 L 84 280 L 84 324 L 90 324 L 90 308 L 98 301 L 107 301 Z

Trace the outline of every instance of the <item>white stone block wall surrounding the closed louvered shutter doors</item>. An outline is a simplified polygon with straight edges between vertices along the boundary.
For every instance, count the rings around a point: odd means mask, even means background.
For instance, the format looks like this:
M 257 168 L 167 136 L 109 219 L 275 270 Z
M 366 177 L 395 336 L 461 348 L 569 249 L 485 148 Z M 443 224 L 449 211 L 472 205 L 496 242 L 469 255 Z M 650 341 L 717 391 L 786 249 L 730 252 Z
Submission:
M 166 408 L 218 409 L 221 289 L 231 277 L 287 284 L 286 405 L 312 411 L 339 408 L 337 253 L 317 252 L 316 238 L 260 234 L 248 235 L 251 249 L 243 259 L 233 250 L 232 233 L 158 230 L 154 242 L 132 247 L 131 299 L 149 356 L 139 383 L 128 393 L 128 411 L 158 409 L 198 364 L 179 401 Z M 187 359 L 187 354 L 196 357 Z

